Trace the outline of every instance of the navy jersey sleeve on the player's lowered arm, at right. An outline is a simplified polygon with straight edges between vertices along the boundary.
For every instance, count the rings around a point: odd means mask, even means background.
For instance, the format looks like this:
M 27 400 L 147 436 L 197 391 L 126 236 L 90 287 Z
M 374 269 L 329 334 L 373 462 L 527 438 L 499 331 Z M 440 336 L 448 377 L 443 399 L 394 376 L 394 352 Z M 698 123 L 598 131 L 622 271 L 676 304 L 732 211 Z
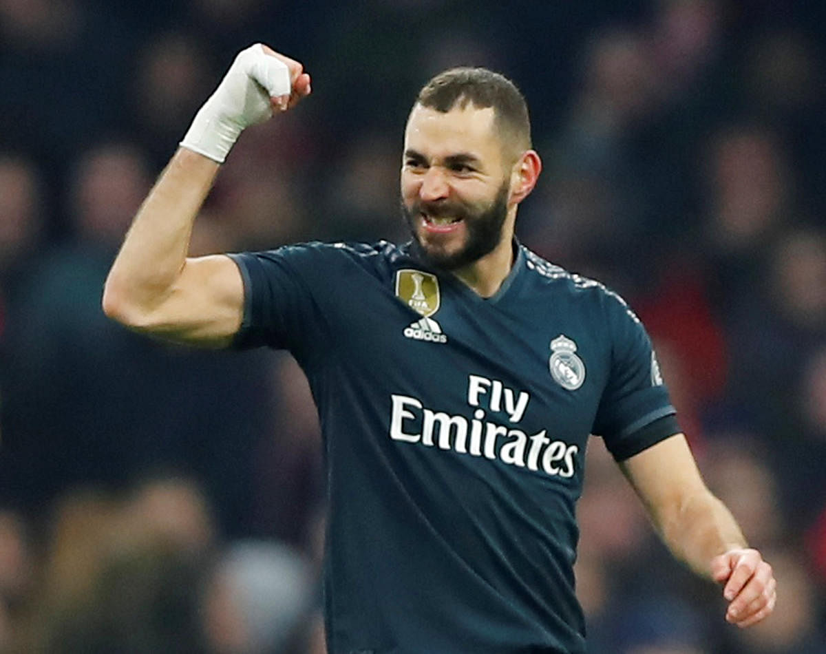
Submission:
M 605 310 L 611 362 L 593 433 L 605 439 L 616 461 L 623 461 L 680 427 L 642 323 L 619 296 L 606 296 Z

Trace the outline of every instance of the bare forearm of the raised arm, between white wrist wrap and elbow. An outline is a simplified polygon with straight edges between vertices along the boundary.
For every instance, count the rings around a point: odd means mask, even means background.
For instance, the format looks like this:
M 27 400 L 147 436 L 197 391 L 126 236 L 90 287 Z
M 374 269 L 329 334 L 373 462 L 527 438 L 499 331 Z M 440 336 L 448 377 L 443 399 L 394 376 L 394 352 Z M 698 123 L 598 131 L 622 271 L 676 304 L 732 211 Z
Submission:
M 140 207 L 107 277 L 107 315 L 148 313 L 183 271 L 192 225 L 219 165 L 180 148 Z M 137 316 L 132 316 L 135 322 Z

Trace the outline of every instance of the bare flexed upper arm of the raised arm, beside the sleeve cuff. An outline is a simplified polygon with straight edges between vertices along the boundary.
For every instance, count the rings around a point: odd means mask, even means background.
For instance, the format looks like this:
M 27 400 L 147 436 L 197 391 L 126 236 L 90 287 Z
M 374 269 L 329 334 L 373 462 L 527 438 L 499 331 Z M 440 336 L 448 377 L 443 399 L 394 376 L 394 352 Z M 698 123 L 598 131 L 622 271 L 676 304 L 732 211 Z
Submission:
M 147 331 L 204 348 L 228 346 L 244 318 L 244 282 L 225 254 L 188 258 Z

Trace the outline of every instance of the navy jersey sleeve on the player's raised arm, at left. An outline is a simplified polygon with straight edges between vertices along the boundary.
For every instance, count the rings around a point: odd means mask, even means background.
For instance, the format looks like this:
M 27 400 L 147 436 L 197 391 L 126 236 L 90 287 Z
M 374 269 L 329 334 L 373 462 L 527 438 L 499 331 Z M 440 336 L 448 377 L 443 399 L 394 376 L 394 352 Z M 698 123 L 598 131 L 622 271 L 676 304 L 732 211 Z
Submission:
M 325 254 L 306 244 L 229 255 L 244 280 L 244 318 L 235 348 L 268 346 L 301 358 L 308 348 L 329 342 L 316 288 L 330 265 Z

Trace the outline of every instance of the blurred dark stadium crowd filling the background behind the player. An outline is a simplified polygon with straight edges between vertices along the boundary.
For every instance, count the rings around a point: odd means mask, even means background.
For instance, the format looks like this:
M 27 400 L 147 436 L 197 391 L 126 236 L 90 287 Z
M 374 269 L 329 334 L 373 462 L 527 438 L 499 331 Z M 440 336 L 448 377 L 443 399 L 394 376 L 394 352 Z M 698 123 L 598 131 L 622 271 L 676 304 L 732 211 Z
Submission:
M 416 92 L 454 64 L 506 73 L 545 165 L 520 239 L 637 310 L 779 579 L 767 623 L 726 624 L 594 439 L 591 652 L 826 652 L 826 5 L 795 0 L 0 0 L 0 652 L 324 652 L 301 371 L 100 310 L 141 199 L 256 40 L 314 92 L 243 135 L 193 254 L 406 239 Z

